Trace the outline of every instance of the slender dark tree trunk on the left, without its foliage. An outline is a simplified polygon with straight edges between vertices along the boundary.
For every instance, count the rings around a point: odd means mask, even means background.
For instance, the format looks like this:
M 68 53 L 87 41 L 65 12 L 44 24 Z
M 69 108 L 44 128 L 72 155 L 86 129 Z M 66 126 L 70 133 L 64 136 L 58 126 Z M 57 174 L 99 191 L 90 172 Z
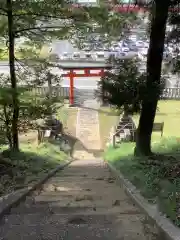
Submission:
M 9 67 L 10 67 L 10 80 L 12 88 L 12 102 L 13 102 L 13 118 L 12 118 L 12 138 L 13 149 L 19 150 L 18 139 L 18 117 L 19 117 L 19 104 L 18 104 L 18 92 L 15 73 L 15 56 L 14 56 L 14 26 L 13 26 L 13 13 L 12 13 L 12 0 L 7 0 L 8 9 L 8 36 L 9 36 Z

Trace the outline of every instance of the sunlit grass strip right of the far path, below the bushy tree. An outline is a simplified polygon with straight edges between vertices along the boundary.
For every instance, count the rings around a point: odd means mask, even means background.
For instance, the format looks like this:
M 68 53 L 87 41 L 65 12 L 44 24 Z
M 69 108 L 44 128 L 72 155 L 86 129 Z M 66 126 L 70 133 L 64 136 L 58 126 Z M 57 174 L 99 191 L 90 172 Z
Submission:
M 99 128 L 102 149 L 106 147 L 111 128 L 118 122 L 119 114 L 110 107 L 101 107 L 99 110 Z

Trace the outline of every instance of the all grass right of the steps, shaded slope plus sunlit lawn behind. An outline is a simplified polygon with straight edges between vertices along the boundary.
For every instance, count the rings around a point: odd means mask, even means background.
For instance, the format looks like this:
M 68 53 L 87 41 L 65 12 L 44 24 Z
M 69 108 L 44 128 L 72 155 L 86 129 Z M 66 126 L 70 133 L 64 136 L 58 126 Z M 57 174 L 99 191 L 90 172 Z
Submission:
M 139 116 L 134 116 L 138 123 Z M 151 203 L 180 226 L 180 101 L 159 101 L 155 122 L 164 122 L 164 136 L 153 133 L 149 158 L 133 156 L 134 143 L 109 147 L 104 158 L 124 174 Z

